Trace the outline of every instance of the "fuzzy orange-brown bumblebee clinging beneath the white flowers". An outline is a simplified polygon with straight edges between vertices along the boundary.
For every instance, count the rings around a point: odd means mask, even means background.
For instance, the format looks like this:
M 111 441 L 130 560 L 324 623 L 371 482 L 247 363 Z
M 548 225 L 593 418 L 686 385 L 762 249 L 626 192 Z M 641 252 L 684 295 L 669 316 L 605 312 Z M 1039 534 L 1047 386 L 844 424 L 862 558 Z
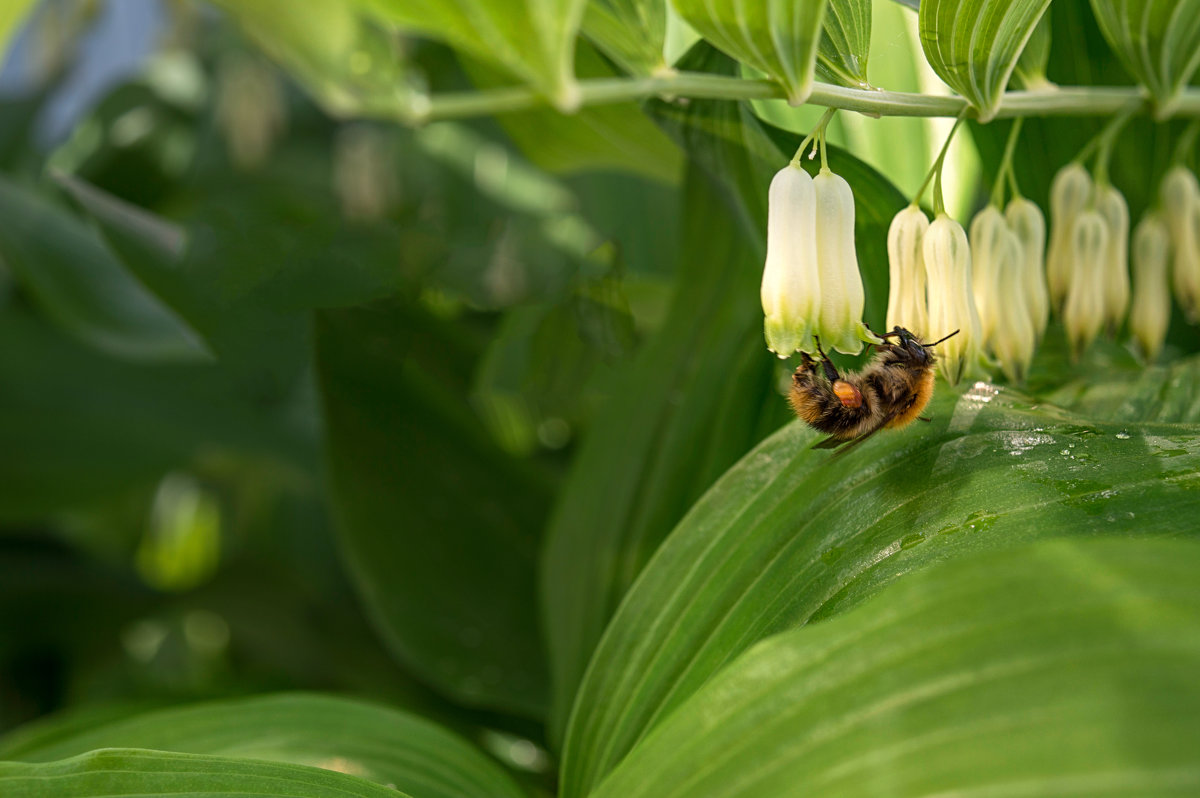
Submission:
M 840 451 L 846 451 L 884 427 L 899 428 L 920 418 L 934 396 L 937 358 L 931 348 L 956 334 L 958 330 L 934 343 L 922 343 L 916 335 L 896 326 L 880 336 L 883 343 L 869 344 L 877 353 L 860 373 L 839 374 L 820 341 L 820 360 L 802 353 L 800 366 L 792 374 L 788 402 L 809 426 L 829 434 L 814 449 L 845 446 Z M 895 338 L 895 343 L 888 338 Z

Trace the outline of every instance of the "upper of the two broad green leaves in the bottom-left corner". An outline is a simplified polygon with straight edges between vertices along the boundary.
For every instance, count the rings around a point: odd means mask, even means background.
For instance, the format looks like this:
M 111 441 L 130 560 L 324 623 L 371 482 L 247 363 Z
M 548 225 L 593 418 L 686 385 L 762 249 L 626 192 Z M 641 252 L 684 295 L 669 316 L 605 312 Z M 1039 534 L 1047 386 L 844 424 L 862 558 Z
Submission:
M 413 798 L 524 794 L 498 763 L 432 721 L 318 694 L 216 701 L 83 731 L 36 731 L 0 740 L 0 760 L 50 762 L 101 748 L 140 748 L 307 764 L 391 785 Z

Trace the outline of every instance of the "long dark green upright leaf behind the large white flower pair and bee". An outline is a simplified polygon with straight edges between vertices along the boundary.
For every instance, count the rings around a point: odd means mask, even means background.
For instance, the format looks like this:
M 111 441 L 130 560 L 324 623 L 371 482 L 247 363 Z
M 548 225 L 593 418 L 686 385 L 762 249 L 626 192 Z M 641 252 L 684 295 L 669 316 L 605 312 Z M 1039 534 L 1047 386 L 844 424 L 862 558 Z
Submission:
M 732 72 L 734 65 L 700 44 L 680 68 Z M 562 734 L 605 624 L 654 550 L 713 479 L 787 413 L 775 388 L 775 359 L 762 340 L 757 287 L 767 187 L 790 157 L 780 145 L 788 137 L 744 104 L 655 101 L 648 110 L 726 198 L 703 198 L 713 190 L 701 175 L 690 176 L 685 218 L 694 227 L 680 245 L 680 293 L 630 382 L 617 390 L 620 398 L 594 422 L 547 532 L 542 595 L 554 678 L 552 738 Z M 853 156 L 833 151 L 830 163 L 854 187 L 868 317 L 882 323 L 883 245 L 905 200 Z

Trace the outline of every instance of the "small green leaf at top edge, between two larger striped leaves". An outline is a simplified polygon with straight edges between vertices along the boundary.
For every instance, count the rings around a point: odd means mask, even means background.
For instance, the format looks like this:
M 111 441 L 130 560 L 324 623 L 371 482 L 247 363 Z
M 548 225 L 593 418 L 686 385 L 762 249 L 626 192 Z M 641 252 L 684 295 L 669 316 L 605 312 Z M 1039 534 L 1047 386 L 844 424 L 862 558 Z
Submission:
M 592 0 L 583 12 L 583 34 L 630 74 L 667 67 L 667 0 Z

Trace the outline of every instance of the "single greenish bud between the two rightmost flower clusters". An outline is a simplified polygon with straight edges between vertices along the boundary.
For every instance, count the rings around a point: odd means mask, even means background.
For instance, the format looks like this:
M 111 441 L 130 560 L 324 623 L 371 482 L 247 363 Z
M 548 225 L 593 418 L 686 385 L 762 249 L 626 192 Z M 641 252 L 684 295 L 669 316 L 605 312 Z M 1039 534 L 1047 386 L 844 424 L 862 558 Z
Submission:
M 1171 320 L 1171 296 L 1166 289 L 1166 264 L 1171 234 L 1162 214 L 1146 214 L 1133 232 L 1133 308 L 1129 329 L 1146 360 L 1163 348 Z

